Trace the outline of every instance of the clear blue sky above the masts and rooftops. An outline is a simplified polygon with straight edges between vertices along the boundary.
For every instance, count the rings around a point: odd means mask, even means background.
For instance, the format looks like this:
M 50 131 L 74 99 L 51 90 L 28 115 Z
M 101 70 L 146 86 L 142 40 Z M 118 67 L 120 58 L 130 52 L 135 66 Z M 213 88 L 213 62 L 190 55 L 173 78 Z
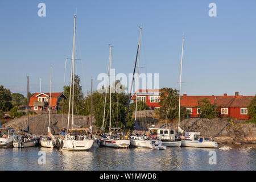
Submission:
M 46 3 L 46 17 L 38 4 Z M 209 3 L 217 17 L 210 17 Z M 11 92 L 61 92 L 72 56 L 77 8 L 76 73 L 84 92 L 105 73 L 113 44 L 116 73 L 132 73 L 142 23 L 141 70 L 159 73 L 159 87 L 178 88 L 185 36 L 182 93 L 256 94 L 256 1 L 0 1 L 0 85 Z M 71 61 L 65 84 L 69 83 Z

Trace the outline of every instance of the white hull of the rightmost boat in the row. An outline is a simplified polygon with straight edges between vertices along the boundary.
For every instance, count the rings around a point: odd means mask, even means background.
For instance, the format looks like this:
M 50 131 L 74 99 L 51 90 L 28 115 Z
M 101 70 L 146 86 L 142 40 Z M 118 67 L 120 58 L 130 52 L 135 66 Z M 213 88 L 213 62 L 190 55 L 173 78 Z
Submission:
M 217 142 L 199 140 L 181 140 L 181 146 L 183 147 L 204 147 L 204 148 L 216 148 L 218 147 Z

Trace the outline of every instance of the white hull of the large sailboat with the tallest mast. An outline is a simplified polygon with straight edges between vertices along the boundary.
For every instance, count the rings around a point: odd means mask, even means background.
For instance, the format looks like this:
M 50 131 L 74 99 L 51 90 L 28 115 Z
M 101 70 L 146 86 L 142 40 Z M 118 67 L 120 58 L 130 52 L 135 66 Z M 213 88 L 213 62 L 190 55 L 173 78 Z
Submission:
M 73 140 L 73 139 L 65 140 L 64 139 L 62 141 L 63 141 L 63 146 L 61 147 L 61 149 L 73 150 L 73 151 L 88 150 L 93 146 L 93 142 L 94 142 L 94 140 L 92 139 L 86 139 L 86 140 Z

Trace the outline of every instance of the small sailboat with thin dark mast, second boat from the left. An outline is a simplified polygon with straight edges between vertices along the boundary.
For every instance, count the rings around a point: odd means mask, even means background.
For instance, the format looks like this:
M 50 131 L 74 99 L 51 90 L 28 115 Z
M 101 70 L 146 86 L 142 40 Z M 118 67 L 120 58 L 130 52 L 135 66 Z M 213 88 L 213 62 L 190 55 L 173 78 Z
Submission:
M 34 147 L 36 145 L 36 136 L 30 135 L 28 126 L 28 76 L 27 76 L 27 130 L 24 130 L 24 133 L 27 133 L 26 135 L 19 135 L 14 139 L 13 147 L 14 148 L 26 148 L 26 147 Z

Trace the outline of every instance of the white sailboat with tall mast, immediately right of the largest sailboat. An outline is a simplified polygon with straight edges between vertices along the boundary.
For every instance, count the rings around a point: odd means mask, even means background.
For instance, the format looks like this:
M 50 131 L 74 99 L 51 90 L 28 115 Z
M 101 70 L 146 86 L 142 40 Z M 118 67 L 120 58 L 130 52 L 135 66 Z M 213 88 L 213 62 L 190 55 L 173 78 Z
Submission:
M 120 133 L 121 128 L 119 127 L 112 127 L 111 126 L 111 63 L 112 63 L 112 45 L 110 45 L 110 93 L 109 93 L 109 97 L 110 97 L 110 106 L 109 106 L 109 110 L 110 110 L 110 114 L 109 114 L 109 133 L 108 136 L 102 135 L 102 137 L 100 138 L 102 145 L 105 147 L 113 147 L 113 148 L 127 148 L 130 145 L 130 139 L 127 137 L 125 138 L 125 136 L 123 136 L 122 134 L 119 135 L 115 135 L 116 133 Z

